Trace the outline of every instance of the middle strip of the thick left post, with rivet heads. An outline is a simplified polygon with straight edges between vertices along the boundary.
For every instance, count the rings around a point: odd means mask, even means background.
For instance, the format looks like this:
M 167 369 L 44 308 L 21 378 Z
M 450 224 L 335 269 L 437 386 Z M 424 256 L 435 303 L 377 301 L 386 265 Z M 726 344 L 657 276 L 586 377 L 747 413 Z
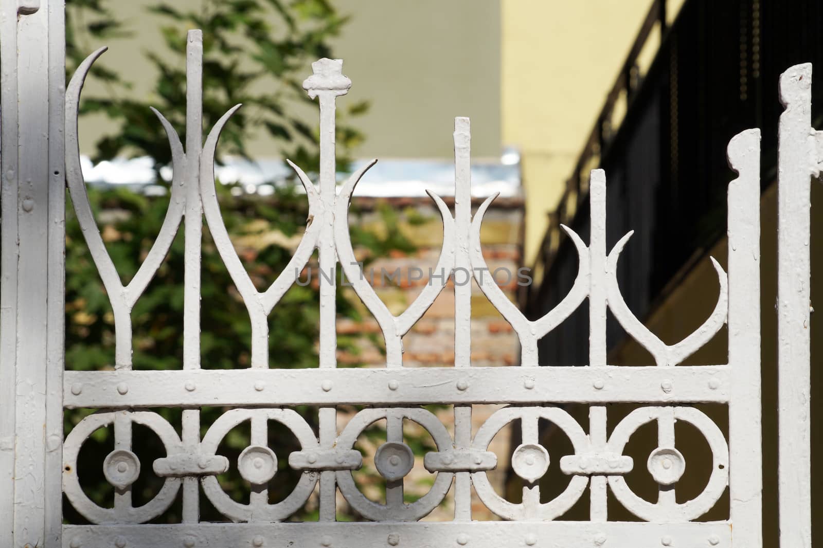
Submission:
M 19 5 L 19 4 L 18 4 Z M 44 545 L 49 258 L 49 5 L 17 24 L 16 451 L 12 546 Z M 38 9 L 40 8 L 40 9 Z

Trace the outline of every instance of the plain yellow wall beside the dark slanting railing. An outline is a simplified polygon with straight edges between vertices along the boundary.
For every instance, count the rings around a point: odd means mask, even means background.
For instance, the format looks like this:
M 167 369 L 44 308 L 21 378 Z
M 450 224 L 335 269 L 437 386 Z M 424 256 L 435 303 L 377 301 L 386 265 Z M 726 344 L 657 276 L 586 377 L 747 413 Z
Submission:
M 651 3 L 501 0 L 502 136 L 522 155 L 526 264 Z

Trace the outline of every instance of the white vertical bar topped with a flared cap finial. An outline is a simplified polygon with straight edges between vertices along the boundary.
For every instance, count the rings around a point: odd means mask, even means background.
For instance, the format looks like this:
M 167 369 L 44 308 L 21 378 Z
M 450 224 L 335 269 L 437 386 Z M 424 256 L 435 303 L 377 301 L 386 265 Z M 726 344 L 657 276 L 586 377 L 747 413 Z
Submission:
M 342 59 L 323 58 L 312 63 L 312 76 L 303 82 L 309 97 L 320 98 L 320 202 L 323 216 L 319 236 L 320 268 L 320 368 L 337 367 L 337 252 L 334 244 L 334 202 L 337 197 L 337 158 L 335 155 L 337 97 L 346 95 L 351 80 L 343 76 Z M 323 381 L 323 390 L 331 390 L 330 381 Z M 320 447 L 331 449 L 337 438 L 337 411 L 323 407 L 319 411 Z M 402 425 L 402 421 L 401 421 Z M 390 432 L 389 435 L 396 435 Z M 402 430 L 401 434 L 402 436 Z M 320 472 L 320 520 L 333 522 L 337 518 L 335 472 Z

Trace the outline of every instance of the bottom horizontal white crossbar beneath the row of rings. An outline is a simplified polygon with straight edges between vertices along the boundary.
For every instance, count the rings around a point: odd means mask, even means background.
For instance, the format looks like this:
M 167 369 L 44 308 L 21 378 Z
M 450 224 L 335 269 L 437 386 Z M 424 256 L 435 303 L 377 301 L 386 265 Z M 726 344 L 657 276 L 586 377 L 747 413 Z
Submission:
M 588 545 L 581 545 L 581 539 Z M 120 542 L 118 544 L 118 541 Z M 74 544 L 72 544 L 72 542 Z M 731 546 L 728 522 L 307 522 L 184 525 L 67 525 L 63 546 L 128 548 L 506 548 L 508 546 Z

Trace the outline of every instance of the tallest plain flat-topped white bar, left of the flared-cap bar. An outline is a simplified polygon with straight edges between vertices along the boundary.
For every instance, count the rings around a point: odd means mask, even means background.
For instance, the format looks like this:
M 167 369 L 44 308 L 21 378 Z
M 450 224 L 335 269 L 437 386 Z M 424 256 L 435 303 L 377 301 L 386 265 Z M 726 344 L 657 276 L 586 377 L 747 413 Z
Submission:
M 200 369 L 200 261 L 202 202 L 202 30 L 189 30 L 186 39 L 186 210 L 184 251 L 183 369 Z M 200 443 L 200 411 L 183 411 L 183 444 L 196 451 Z M 183 521 L 200 519 L 199 478 L 183 478 Z

